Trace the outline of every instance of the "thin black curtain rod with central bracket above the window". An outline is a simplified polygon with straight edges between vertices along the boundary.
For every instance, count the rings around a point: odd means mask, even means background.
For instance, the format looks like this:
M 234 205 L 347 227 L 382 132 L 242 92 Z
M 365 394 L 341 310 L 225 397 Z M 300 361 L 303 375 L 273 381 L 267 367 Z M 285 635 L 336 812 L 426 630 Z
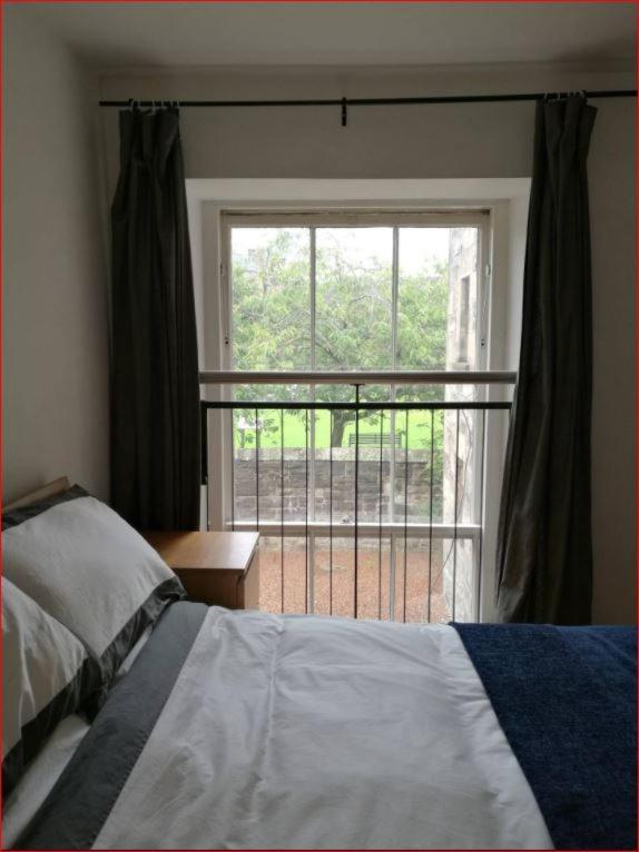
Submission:
M 572 93 L 572 92 L 570 92 Z M 636 98 L 637 89 L 582 91 L 586 98 Z M 346 126 L 348 107 L 411 106 L 417 103 L 503 103 L 512 101 L 561 99 L 569 92 L 523 92 L 512 95 L 434 95 L 415 98 L 314 98 L 308 100 L 100 100 L 100 107 L 341 107 Z

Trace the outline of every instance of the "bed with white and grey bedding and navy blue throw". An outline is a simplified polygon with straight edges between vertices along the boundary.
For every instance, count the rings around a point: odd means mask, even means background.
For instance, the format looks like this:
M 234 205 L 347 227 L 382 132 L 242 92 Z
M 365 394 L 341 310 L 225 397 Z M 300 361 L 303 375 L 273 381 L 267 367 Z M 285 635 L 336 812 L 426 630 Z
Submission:
M 73 671 L 87 664 L 77 705 L 6 799 L 6 846 L 636 848 L 633 628 L 206 607 L 96 503 L 76 491 L 16 527 L 3 518 L 3 583 L 71 624 L 86 654 Z M 145 559 L 157 572 L 134 590 L 135 630 L 120 617 L 106 645 L 60 604 L 67 581 L 51 592 L 59 565 L 96 553 L 97 527 L 89 548 L 78 541 L 96 517 L 126 538 L 114 553 L 127 577 Z M 42 577 L 42 543 L 60 528 Z

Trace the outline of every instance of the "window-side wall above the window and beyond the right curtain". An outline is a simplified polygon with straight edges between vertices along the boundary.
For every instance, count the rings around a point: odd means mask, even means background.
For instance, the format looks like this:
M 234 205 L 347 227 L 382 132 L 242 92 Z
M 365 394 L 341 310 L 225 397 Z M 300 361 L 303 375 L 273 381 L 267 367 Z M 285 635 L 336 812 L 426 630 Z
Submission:
M 631 71 L 561 66 L 494 66 L 430 71 L 247 69 L 244 72 L 122 72 L 105 76 L 102 97 L 294 98 L 424 92 L 557 91 L 632 87 Z M 633 495 L 633 108 L 597 101 L 589 172 L 594 300 L 592 416 L 594 617 L 635 617 Z M 183 110 L 190 178 L 527 177 L 530 103 L 338 110 Z M 115 111 L 102 116 L 109 192 L 117 174 Z M 519 218 L 524 226 L 525 211 Z M 521 281 L 509 316 L 518 327 Z M 515 336 L 517 339 L 517 336 Z M 510 365 L 517 367 L 517 346 Z

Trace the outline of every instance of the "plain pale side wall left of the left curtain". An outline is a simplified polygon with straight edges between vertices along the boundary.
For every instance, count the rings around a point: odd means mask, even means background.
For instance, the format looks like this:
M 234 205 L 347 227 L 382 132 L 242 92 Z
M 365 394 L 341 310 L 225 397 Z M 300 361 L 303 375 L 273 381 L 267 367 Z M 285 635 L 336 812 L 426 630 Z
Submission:
M 4 16 L 4 499 L 67 474 L 108 491 L 96 78 L 29 9 Z

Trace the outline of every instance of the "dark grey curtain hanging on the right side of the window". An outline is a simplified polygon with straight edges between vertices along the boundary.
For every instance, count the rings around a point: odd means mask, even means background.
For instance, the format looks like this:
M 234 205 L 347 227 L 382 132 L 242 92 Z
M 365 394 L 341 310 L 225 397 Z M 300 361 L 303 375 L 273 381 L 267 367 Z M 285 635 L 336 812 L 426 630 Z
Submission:
M 519 378 L 498 534 L 498 613 L 586 624 L 592 596 L 592 331 L 586 160 L 596 109 L 537 106 Z

